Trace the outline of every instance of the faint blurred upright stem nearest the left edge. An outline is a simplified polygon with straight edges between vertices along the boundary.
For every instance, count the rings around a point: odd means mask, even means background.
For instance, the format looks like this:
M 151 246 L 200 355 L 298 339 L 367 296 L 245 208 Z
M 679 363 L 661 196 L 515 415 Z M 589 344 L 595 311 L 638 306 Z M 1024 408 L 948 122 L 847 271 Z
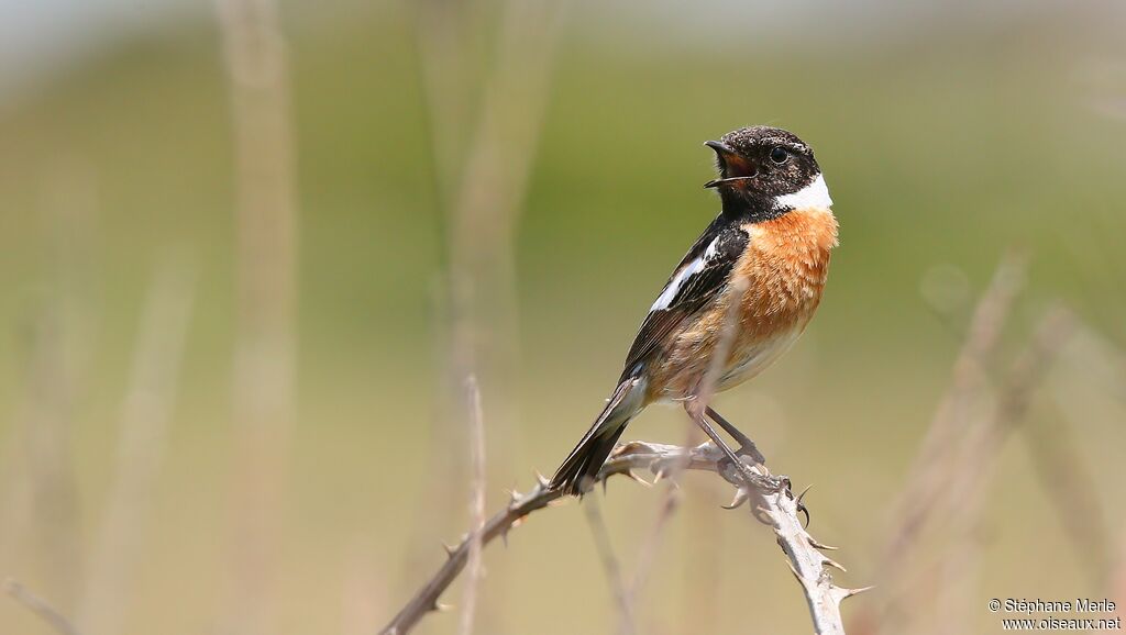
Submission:
M 16 509 L 6 516 L 5 530 L 14 530 L 14 538 L 26 531 L 21 538 L 32 548 L 16 546 L 17 553 L 30 552 L 41 566 L 43 592 L 70 612 L 83 565 L 81 492 L 71 446 L 74 402 L 84 392 L 98 333 L 98 303 L 91 292 L 98 288 L 97 250 L 91 243 L 97 234 L 98 179 L 81 159 L 54 159 L 44 170 L 42 187 L 41 218 L 54 290 L 28 316 L 34 320 L 28 329 L 28 399 L 20 412 L 24 444 L 17 462 L 24 471 L 17 485 L 23 492 L 17 494 L 26 495 L 28 506 L 26 515 Z

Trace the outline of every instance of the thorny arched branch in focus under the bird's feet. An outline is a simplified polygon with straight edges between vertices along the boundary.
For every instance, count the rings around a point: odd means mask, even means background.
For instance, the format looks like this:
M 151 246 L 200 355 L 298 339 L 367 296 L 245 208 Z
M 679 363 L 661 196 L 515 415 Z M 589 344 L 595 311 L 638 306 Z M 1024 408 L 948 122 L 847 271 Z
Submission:
M 701 444 L 691 448 L 631 441 L 619 444 L 610 458 L 602 466 L 596 481 L 604 481 L 616 474 L 637 479 L 635 471 L 647 469 L 660 474 L 677 464 L 685 469 L 715 472 L 725 481 L 739 488 L 738 501 L 748 500 L 757 492 L 754 484 L 743 476 L 743 471 L 735 468 L 724 459 L 726 456 L 712 444 Z M 744 466 L 745 467 L 745 466 Z M 759 466 L 748 467 L 757 471 Z M 507 537 L 508 533 L 519 525 L 528 515 L 546 508 L 562 498 L 561 490 L 548 490 L 545 479 L 527 494 L 513 493 L 511 502 L 490 518 L 480 533 L 482 544 L 489 544 L 497 537 Z M 767 518 L 774 526 L 778 544 L 789 558 L 802 589 L 808 599 L 810 611 L 819 634 L 843 633 L 840 621 L 840 601 L 865 589 L 843 589 L 832 582 L 828 567 L 840 565 L 825 557 L 820 549 L 830 548 L 820 545 L 802 527 L 797 516 L 797 501 L 787 490 L 769 492 L 760 497 L 757 511 L 760 518 Z M 468 560 L 470 543 L 476 536 L 466 536 L 456 547 L 448 549 L 448 560 L 431 576 L 426 584 L 410 599 L 399 615 L 381 632 L 385 635 L 403 635 L 418 624 L 422 617 L 438 609 L 438 598 L 465 567 Z

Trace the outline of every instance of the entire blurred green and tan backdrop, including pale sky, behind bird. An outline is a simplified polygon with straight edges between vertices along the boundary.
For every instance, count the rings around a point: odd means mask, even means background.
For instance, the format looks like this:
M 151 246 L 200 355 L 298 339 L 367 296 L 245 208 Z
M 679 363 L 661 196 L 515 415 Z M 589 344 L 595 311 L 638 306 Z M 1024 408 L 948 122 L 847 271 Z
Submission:
M 105 33 L 71 48 L 51 44 L 69 32 L 21 21 L 30 9 L 0 3 L 9 29 L 44 29 L 35 51 L 69 51 L 0 84 L 0 574 L 56 598 L 64 612 L 81 594 L 144 298 L 161 263 L 180 258 L 195 272 L 195 303 L 167 451 L 122 591 L 123 629 L 234 633 L 224 618 L 245 592 L 230 574 L 241 463 L 238 171 L 220 27 L 211 5 L 171 2 L 113 28 L 133 9 L 105 5 L 95 20 Z M 419 36 L 427 11 L 447 10 L 438 5 L 280 7 L 300 257 L 296 411 L 268 524 L 277 543 L 270 632 L 375 632 L 440 564 L 439 540 L 467 526 L 445 318 L 457 227 L 436 186 Z M 454 147 L 455 163 L 470 152 L 481 95 L 506 54 L 494 43 L 508 10 L 488 1 L 450 10 L 467 52 L 450 95 L 464 97 L 455 120 L 468 127 L 437 143 Z M 510 258 L 486 254 L 508 262 L 510 278 L 490 274 L 476 296 L 512 303 L 495 308 L 506 312 L 499 321 L 479 316 L 472 338 L 488 509 L 507 488 L 527 490 L 534 471 L 551 473 L 586 430 L 645 308 L 718 209 L 700 188 L 713 161 L 701 143 L 763 123 L 816 149 L 841 247 L 798 346 L 718 405 L 775 469 L 816 484 L 813 533 L 843 546 L 838 560 L 850 567 L 838 579 L 878 583 L 891 504 L 949 384 L 974 301 L 1019 249 L 1028 288 L 1004 355 L 1056 299 L 1081 322 L 1080 343 L 1048 374 L 1027 426 L 1070 430 L 1067 460 L 1082 464 L 1101 508 L 1088 521 L 1109 540 L 1084 552 L 1069 539 L 1037 462 L 1010 441 L 983 479 L 980 571 L 964 581 L 971 621 L 953 632 L 997 630 L 984 608 L 993 597 L 1107 597 L 1126 539 L 1123 6 L 716 0 L 578 2 L 561 12 L 544 26 L 558 38 L 549 62 L 518 66 L 538 73 L 544 108 L 533 117 L 538 138 L 511 240 L 501 239 Z M 522 98 L 507 107 L 519 111 Z M 495 274 L 490 267 L 480 270 Z M 34 381 L 44 330 L 57 340 L 48 357 L 61 360 L 59 394 Z M 74 495 L 54 507 L 27 485 L 39 460 L 27 438 L 44 408 L 64 422 L 56 449 L 72 486 L 59 491 Z M 682 435 L 679 410 L 653 409 L 626 436 Z M 717 509 L 730 495 L 717 479 L 685 480 L 638 598 L 638 630 L 808 632 L 769 531 Z M 632 571 L 660 495 L 623 482 L 598 499 Z M 70 538 L 54 531 L 59 522 Z M 507 548 L 490 547 L 477 630 L 614 632 L 586 525 L 572 502 L 530 518 Z M 69 546 L 52 543 L 56 534 Z M 1092 560 L 1106 570 L 1092 571 Z M 446 600 L 458 597 L 455 585 Z M 882 600 L 852 601 L 846 614 Z M 430 616 L 419 632 L 453 633 L 455 615 Z M 0 629 L 48 632 L 12 601 L 0 603 Z

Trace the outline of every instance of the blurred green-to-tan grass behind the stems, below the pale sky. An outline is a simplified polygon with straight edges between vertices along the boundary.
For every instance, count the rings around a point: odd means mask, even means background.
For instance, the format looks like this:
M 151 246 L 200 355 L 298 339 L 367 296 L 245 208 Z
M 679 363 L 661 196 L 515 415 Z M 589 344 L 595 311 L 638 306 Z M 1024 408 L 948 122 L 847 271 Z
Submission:
M 819 484 L 820 535 L 849 547 L 847 579 L 864 583 L 883 525 L 857 513 L 849 493 L 867 489 L 890 501 L 899 491 L 959 340 L 920 296 L 927 271 L 954 266 L 978 289 L 1004 249 L 1024 247 L 1034 258 L 1024 316 L 1061 296 L 1119 343 L 1126 337 L 1126 254 L 1118 249 L 1126 122 L 1094 108 L 1101 93 L 1082 79 L 1108 56 L 1120 63 L 1123 51 L 1091 36 L 1101 33 L 1092 21 L 1043 16 L 989 32 L 945 25 L 841 50 L 828 39 L 688 46 L 664 42 L 650 23 L 589 29 L 577 18 L 560 53 L 516 244 L 522 372 L 515 394 L 524 446 L 494 457 L 519 469 L 493 483 L 490 508 L 502 488 L 526 486 L 534 468 L 551 471 L 586 429 L 644 307 L 717 209 L 699 187 L 712 161 L 701 142 L 770 123 L 816 147 L 842 247 L 801 345 L 721 404 L 751 430 L 763 418 L 761 404 L 772 404 L 763 450 L 772 465 Z M 439 376 L 432 298 L 440 221 L 409 11 L 349 5 L 334 18 L 310 18 L 294 9 L 289 27 L 303 211 L 300 417 L 288 516 L 278 531 L 284 569 L 293 573 L 285 624 L 331 632 L 350 545 L 368 545 L 382 563 L 388 615 L 426 573 L 405 569 L 412 527 L 403 520 L 419 504 L 464 506 L 417 499 L 435 442 L 428 424 Z M 222 495 L 231 428 L 230 136 L 217 42 L 206 23 L 127 42 L 0 119 L 7 350 L 19 349 L 21 325 L 60 288 L 52 253 L 90 254 L 82 294 L 92 355 L 75 404 L 87 528 L 108 479 L 153 262 L 187 245 L 203 263 L 161 502 L 131 616 L 135 633 L 151 624 L 164 633 L 212 629 L 223 592 L 214 580 L 230 511 Z M 93 230 L 68 239 L 79 245 L 54 245 L 47 202 L 75 172 L 96 184 Z M 18 411 L 25 384 L 20 355 L 0 357 L 0 412 Z M 1085 422 L 1089 445 L 1123 442 L 1121 410 L 1108 412 Z M 5 418 L 3 438 L 14 417 Z M 629 435 L 674 440 L 681 424 L 676 411 L 656 411 Z M 1097 594 L 1031 485 L 1022 451 L 1010 447 L 1002 458 L 981 597 Z M 1123 476 L 1110 462 L 1092 471 L 1106 483 Z M 605 512 L 628 564 L 656 499 L 625 484 L 610 490 Z M 1123 494 L 1109 485 L 1101 493 L 1120 527 Z M 506 588 L 485 579 L 485 630 L 605 632 L 611 624 L 581 515 L 573 506 L 552 513 L 521 528 L 507 552 L 486 552 L 489 570 L 507 573 Z M 690 593 L 681 572 L 695 542 L 715 539 L 738 563 L 716 572 L 724 581 L 720 606 L 745 605 L 750 594 L 766 632 L 804 624 L 801 598 L 766 535 L 754 536 L 759 529 L 734 515 L 715 527 L 718 535 L 706 538 L 686 534 L 682 518 L 673 522 L 643 612 L 683 623 L 690 607 L 679 599 Z M 461 527 L 443 531 L 453 538 Z M 1034 547 L 1035 565 L 1025 557 Z M 440 557 L 435 545 L 434 563 Z M 30 562 L 12 566 L 36 580 Z M 28 624 L 0 605 L 6 629 Z M 452 619 L 437 617 L 420 632 L 452 628 Z

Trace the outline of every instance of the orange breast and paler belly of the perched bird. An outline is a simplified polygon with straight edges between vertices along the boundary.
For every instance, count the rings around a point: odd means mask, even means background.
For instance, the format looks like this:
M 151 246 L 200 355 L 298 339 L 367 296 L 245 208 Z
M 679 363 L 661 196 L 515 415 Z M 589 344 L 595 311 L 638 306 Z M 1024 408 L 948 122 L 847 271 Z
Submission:
M 781 356 L 821 302 L 829 272 L 829 253 L 837 245 L 837 220 L 823 208 L 795 209 L 778 218 L 748 224 L 747 252 L 733 276 L 745 280 L 741 297 L 721 295 L 677 334 L 665 358 L 654 368 L 650 400 L 696 394 L 720 342 L 731 302 L 739 302 L 735 340 L 717 390 L 758 375 Z

